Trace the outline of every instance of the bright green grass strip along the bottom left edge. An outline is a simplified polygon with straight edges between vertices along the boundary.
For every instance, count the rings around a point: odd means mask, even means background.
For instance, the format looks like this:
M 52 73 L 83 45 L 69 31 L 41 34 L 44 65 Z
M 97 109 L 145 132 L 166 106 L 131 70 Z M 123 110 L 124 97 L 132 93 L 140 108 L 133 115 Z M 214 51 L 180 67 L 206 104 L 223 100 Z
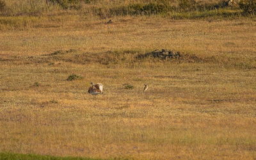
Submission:
M 13 154 L 13 153 L 0 153 L 0 159 L 36 159 L 36 160 L 43 160 L 43 159 L 92 159 L 92 158 L 84 158 L 84 157 L 54 157 L 54 156 L 42 156 L 36 154 Z

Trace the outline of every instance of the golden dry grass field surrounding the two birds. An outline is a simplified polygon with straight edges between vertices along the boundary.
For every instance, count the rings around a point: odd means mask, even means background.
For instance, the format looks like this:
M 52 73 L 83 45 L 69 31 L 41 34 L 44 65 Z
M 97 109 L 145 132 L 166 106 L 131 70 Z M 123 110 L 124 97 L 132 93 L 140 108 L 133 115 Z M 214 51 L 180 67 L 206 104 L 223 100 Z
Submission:
M 256 159 L 255 19 L 1 19 L 0 152 Z

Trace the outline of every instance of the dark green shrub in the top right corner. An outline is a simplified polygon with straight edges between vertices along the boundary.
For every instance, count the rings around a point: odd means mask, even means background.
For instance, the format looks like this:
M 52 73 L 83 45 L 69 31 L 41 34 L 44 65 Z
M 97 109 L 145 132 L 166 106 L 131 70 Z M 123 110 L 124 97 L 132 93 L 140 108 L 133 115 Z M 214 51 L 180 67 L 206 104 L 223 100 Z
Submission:
M 255 0 L 241 0 L 239 2 L 240 8 L 243 10 L 244 15 L 256 14 L 256 1 Z

